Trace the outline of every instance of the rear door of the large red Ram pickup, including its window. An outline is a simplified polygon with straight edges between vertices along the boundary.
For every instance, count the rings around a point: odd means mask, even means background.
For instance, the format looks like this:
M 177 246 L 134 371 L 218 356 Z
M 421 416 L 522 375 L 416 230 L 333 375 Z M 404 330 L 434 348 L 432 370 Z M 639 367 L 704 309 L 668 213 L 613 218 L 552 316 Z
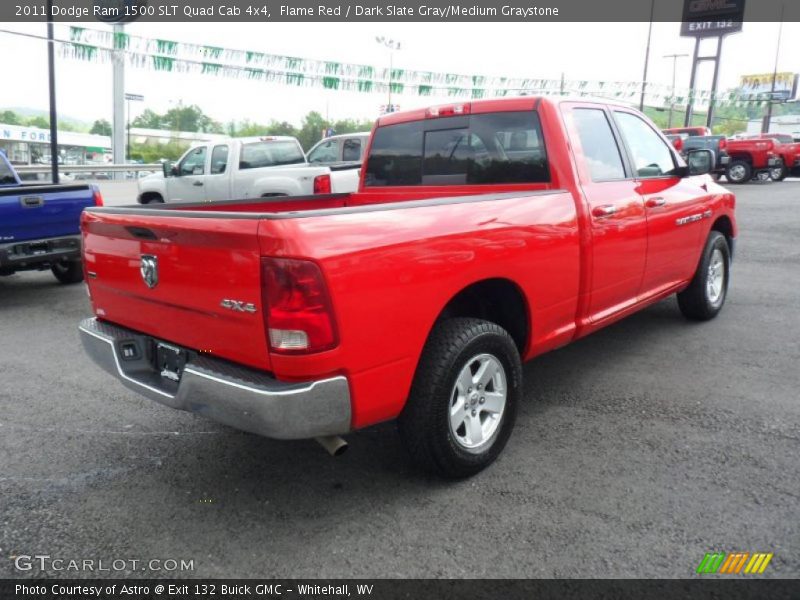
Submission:
M 600 321 L 636 301 L 647 255 L 644 201 L 606 109 L 593 104 L 563 106 L 590 213 L 586 314 L 591 321 Z

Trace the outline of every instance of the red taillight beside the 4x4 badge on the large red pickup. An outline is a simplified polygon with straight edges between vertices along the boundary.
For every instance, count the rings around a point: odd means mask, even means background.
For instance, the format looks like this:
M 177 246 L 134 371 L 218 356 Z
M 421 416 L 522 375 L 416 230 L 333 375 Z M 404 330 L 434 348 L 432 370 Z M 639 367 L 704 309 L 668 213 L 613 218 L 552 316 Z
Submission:
M 307 354 L 338 343 L 330 297 L 316 263 L 262 258 L 261 301 L 272 352 Z

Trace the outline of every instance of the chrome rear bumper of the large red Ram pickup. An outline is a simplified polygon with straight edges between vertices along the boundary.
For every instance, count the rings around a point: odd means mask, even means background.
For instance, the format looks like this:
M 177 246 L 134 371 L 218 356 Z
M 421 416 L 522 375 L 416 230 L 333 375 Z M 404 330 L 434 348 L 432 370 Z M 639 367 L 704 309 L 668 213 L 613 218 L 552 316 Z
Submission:
M 277 439 L 350 430 L 350 386 L 343 376 L 286 383 L 197 355 L 174 382 L 162 377 L 147 358 L 146 347 L 153 338 L 97 319 L 82 321 L 78 329 L 86 352 L 100 367 L 131 390 L 170 408 Z

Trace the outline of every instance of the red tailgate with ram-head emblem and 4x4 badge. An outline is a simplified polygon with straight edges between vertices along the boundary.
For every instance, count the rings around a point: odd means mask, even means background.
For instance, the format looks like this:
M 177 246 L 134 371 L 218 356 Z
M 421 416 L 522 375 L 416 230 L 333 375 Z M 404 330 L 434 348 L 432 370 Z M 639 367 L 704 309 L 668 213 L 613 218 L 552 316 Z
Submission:
M 180 346 L 269 369 L 258 218 L 87 211 L 95 314 Z

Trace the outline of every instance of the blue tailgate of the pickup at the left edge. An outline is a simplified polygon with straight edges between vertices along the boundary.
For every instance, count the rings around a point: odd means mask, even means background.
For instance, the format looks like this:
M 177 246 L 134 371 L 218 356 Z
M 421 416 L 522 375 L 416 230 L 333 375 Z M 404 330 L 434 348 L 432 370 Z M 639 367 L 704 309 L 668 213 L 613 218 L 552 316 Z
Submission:
M 0 241 L 77 235 L 81 212 L 89 206 L 94 206 L 89 185 L 0 189 Z

